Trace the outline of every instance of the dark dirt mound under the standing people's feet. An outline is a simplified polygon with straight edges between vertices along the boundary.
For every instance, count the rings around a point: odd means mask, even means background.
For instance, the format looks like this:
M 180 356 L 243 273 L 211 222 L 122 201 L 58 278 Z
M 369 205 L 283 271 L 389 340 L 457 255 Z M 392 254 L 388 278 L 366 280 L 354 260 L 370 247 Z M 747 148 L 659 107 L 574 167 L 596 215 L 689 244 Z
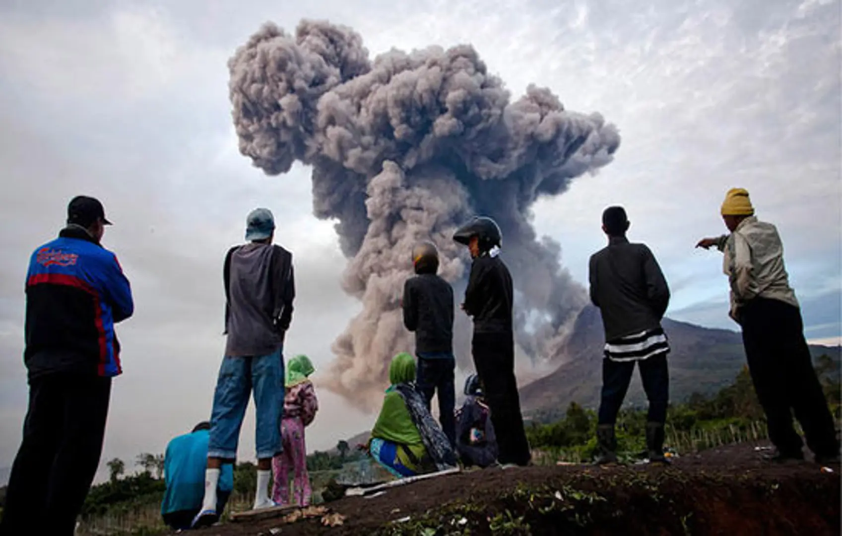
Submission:
M 288 534 L 839 534 L 839 466 L 772 465 L 753 445 L 632 465 L 486 469 L 326 505 L 318 517 L 232 523 L 207 536 Z M 280 532 L 277 529 L 280 528 Z

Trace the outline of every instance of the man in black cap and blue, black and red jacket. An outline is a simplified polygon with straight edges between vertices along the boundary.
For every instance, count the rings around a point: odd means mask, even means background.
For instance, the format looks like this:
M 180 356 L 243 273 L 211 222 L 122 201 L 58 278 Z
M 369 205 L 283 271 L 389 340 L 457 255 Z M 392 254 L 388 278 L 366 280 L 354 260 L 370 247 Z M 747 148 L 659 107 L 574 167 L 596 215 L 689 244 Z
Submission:
M 35 249 L 26 280 L 29 409 L 9 477 L 2 534 L 72 534 L 102 453 L 114 326 L 134 311 L 117 257 L 100 244 L 102 204 L 77 196 L 67 227 Z

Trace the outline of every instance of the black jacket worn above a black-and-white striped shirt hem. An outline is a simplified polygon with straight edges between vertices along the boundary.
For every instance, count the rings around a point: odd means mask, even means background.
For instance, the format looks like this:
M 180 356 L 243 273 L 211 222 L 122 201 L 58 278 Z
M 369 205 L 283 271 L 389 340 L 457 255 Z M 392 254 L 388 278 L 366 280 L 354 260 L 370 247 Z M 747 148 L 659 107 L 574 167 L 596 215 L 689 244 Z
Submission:
M 602 313 L 605 340 L 660 327 L 669 287 L 646 245 L 611 238 L 591 256 L 589 272 L 590 300 Z

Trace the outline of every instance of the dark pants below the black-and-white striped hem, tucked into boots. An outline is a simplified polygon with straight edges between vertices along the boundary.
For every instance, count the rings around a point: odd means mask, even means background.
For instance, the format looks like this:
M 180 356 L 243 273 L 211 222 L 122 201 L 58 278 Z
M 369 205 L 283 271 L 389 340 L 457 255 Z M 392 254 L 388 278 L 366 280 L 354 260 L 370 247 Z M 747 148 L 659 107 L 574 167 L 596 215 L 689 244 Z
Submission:
M 626 398 L 629 383 L 632 383 L 634 361 L 615 362 L 607 357 L 602 360 L 602 400 L 600 401 L 600 424 L 613 425 Z M 637 362 L 643 390 L 649 400 L 647 421 L 663 424 L 667 420 L 669 405 L 669 371 L 667 355 L 653 356 Z

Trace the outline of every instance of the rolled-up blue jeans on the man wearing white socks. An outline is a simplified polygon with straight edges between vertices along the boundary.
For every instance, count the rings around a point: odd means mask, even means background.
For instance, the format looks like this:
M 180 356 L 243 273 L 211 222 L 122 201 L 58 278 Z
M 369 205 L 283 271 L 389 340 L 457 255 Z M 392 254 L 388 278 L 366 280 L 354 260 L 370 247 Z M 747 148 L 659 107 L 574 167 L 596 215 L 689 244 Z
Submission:
M 282 450 L 280 420 L 284 413 L 284 356 L 279 348 L 268 356 L 225 356 L 219 368 L 210 415 L 208 458 L 234 460 L 242 417 L 254 392 L 258 459 Z

